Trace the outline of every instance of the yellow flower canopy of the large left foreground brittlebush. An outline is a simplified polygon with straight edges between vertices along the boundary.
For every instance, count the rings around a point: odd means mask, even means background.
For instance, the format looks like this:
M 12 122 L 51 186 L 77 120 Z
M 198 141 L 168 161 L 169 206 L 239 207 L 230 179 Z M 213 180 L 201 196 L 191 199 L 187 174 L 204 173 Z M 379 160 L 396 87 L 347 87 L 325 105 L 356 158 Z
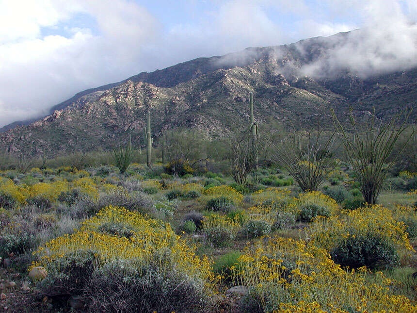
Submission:
M 132 231 L 132 236 L 127 238 L 101 232 L 100 226 L 106 223 L 125 225 Z M 38 261 L 31 268 L 43 266 L 48 270 L 49 265 L 60 258 L 85 252 L 94 253 L 95 266 L 123 260 L 141 268 L 155 262 L 155 256 L 167 255 L 167 250 L 169 262 L 160 260 L 159 264 L 162 273 L 172 266 L 189 278 L 203 281 L 207 293 L 214 292 L 216 278 L 206 256 L 202 259 L 196 256 L 193 248 L 175 234 L 169 223 L 146 219 L 139 213 L 121 207 L 106 207 L 84 221 L 79 231 L 55 238 L 39 247 L 33 253 Z

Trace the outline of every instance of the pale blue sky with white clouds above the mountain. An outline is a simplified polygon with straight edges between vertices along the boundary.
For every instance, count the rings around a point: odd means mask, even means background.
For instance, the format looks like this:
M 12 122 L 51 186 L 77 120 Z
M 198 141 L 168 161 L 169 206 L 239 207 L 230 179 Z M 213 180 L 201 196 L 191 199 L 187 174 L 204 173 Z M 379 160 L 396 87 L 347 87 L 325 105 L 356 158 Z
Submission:
M 0 127 L 143 71 L 357 28 L 335 63 L 411 66 L 416 21 L 416 0 L 0 0 Z

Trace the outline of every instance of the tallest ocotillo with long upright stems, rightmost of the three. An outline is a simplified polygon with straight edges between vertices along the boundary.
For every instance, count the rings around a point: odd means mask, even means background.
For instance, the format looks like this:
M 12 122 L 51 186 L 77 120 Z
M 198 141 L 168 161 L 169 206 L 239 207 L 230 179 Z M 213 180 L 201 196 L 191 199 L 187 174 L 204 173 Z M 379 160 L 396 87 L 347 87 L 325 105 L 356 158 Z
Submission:
M 400 113 L 387 123 L 382 123 L 375 116 L 374 110 L 369 120 L 359 125 L 355 122 L 352 111 L 351 108 L 351 130 L 345 130 L 332 109 L 334 124 L 345 148 L 347 159 L 361 184 L 364 200 L 369 204 L 375 204 L 388 170 L 397 161 L 414 130 L 401 146 L 397 146 L 399 150 L 396 151 L 396 156 L 389 160 L 397 140 L 407 128 L 409 114 Z

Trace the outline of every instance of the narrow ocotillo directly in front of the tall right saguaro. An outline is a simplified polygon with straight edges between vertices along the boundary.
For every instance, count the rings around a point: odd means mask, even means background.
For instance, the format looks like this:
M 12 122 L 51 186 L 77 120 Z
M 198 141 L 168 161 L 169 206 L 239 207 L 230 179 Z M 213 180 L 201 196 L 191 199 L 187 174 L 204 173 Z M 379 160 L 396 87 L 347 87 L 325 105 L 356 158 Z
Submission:
M 247 177 L 257 165 L 257 157 L 265 146 L 265 140 L 252 137 L 252 133 L 232 134 L 228 138 L 229 161 L 233 179 L 246 184 Z

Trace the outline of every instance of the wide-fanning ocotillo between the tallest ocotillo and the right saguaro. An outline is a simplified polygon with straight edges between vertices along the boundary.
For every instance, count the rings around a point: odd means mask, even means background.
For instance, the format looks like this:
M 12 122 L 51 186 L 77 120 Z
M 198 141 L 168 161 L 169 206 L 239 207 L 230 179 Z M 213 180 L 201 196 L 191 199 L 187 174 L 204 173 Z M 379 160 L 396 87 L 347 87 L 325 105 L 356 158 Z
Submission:
M 284 166 L 303 191 L 317 190 L 335 168 L 330 150 L 335 133 L 289 133 L 273 146 L 273 160 Z

